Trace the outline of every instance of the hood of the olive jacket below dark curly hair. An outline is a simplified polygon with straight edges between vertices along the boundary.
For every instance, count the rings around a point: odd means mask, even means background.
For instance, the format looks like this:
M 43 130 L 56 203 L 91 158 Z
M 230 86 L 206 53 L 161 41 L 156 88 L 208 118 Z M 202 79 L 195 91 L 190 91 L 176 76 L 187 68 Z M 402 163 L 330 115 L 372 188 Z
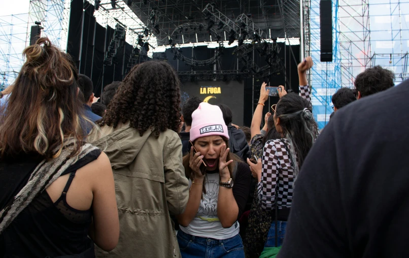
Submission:
M 142 136 L 138 130 L 127 123 L 120 123 L 116 128 L 103 126 L 100 130 L 92 130 L 88 142 L 103 150 L 109 157 L 111 167 L 120 169 L 130 165 L 152 134 L 149 128 Z

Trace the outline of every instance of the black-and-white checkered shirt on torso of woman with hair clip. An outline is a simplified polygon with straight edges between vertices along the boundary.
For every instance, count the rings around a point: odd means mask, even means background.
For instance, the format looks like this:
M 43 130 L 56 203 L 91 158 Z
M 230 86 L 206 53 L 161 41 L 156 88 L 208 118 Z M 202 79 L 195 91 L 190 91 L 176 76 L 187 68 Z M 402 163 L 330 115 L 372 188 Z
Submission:
M 290 148 L 288 140 L 285 141 Z M 293 168 L 290 155 L 284 143 L 280 140 L 269 140 L 263 149 L 261 182 L 257 185 L 261 207 L 265 210 L 274 209 L 276 202 L 276 187 L 278 183 L 278 207 L 290 208 L 293 197 Z

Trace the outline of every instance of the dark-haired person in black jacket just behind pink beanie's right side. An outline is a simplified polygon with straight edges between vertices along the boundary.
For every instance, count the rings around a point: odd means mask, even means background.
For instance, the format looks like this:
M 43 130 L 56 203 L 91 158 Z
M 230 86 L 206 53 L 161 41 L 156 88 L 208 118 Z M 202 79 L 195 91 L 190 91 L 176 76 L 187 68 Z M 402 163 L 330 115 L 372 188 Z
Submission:
M 231 112 L 231 109 L 224 104 L 219 104 L 219 108 L 222 110 L 223 119 L 229 132 L 230 152 L 246 161 L 247 158 L 250 157 L 250 147 L 247 143 L 246 135 L 242 130 L 237 129 L 231 124 L 233 121 L 233 112 Z

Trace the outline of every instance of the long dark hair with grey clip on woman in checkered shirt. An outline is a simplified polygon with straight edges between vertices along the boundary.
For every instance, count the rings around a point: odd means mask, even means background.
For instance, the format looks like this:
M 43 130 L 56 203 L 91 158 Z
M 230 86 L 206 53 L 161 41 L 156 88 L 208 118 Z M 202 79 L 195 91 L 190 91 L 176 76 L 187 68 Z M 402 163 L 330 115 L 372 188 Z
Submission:
M 311 104 L 297 94 L 284 95 L 277 104 L 275 120 L 283 136 L 290 141 L 290 151 L 295 151 L 290 154 L 292 157 L 297 156 L 297 159 L 292 160 L 294 164 L 298 161 L 295 168 L 298 170 L 319 134 Z

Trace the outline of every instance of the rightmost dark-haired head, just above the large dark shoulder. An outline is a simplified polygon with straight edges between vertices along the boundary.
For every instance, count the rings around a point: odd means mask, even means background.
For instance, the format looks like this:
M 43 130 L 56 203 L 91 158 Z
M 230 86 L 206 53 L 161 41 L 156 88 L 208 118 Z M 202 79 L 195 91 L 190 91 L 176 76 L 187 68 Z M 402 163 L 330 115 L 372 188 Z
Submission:
M 374 66 L 358 74 L 355 79 L 355 87 L 361 93 L 361 97 L 381 92 L 393 87 L 395 74 L 392 71 Z

